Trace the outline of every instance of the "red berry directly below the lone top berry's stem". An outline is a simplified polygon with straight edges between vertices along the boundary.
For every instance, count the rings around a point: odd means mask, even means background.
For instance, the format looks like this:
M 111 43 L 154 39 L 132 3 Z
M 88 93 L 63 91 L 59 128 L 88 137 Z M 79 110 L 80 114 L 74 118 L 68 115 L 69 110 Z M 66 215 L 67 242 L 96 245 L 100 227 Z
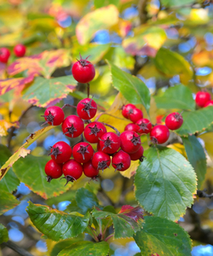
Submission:
M 85 98 L 78 102 L 77 113 L 81 119 L 92 119 L 97 112 L 97 104 L 93 99 Z

